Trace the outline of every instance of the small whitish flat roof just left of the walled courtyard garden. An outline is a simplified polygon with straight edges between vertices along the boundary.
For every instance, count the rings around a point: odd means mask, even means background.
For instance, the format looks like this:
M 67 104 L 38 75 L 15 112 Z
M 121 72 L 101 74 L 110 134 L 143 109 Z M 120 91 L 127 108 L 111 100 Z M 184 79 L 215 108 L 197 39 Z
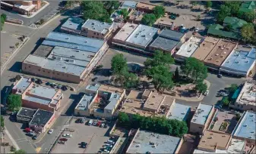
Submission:
M 209 118 L 208 115 L 213 109 L 213 106 L 204 103 L 199 103 L 198 109 L 194 112 L 194 116 L 191 122 L 199 125 L 205 125 L 205 122 Z

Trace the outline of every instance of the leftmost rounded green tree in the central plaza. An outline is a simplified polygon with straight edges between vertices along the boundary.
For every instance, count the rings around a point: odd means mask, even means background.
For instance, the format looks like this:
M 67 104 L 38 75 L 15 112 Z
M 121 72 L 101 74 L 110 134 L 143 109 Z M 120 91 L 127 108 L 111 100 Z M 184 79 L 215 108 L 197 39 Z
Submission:
M 123 75 L 128 72 L 127 60 L 123 54 L 115 54 L 111 60 L 111 69 L 115 75 Z

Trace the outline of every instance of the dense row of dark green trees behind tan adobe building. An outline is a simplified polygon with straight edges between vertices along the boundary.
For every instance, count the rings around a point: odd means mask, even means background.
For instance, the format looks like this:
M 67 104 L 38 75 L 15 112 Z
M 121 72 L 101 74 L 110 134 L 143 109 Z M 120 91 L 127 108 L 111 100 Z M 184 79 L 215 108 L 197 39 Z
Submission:
M 188 126 L 185 122 L 177 119 L 166 119 L 166 117 L 145 117 L 141 115 L 133 115 L 128 119 L 128 115 L 124 112 L 119 113 L 118 126 L 124 128 L 141 128 L 146 131 L 153 131 L 159 134 L 169 134 L 175 137 L 182 137 L 188 132 Z

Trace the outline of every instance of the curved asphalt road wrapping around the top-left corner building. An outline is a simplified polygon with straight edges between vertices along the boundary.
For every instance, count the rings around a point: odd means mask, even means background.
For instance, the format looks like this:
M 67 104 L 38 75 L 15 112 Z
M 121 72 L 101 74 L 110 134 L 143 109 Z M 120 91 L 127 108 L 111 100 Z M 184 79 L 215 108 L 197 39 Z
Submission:
M 62 1 L 47 1 L 49 2 L 49 5 L 44 8 L 42 11 L 40 11 L 38 14 L 36 14 L 34 17 L 27 18 L 22 17 L 21 15 L 17 14 L 16 12 L 10 12 L 5 10 L 0 10 L 1 14 L 6 14 L 7 16 L 14 18 L 14 19 L 20 19 L 23 20 L 24 26 L 30 26 L 30 24 L 35 23 L 36 21 L 42 19 L 43 17 L 49 16 L 52 14 L 52 12 L 55 12 L 58 9 L 59 2 Z

